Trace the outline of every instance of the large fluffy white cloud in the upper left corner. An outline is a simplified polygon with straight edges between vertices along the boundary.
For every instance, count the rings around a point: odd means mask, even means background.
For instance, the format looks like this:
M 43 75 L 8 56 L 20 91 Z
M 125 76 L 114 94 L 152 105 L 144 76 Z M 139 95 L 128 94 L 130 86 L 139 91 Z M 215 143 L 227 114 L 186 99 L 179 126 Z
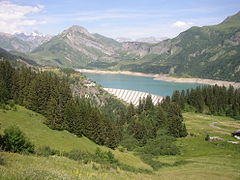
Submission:
M 0 2 L 0 32 L 15 33 L 22 31 L 25 26 L 45 23 L 28 16 L 42 11 L 43 8 L 42 5 L 22 6 L 10 1 Z

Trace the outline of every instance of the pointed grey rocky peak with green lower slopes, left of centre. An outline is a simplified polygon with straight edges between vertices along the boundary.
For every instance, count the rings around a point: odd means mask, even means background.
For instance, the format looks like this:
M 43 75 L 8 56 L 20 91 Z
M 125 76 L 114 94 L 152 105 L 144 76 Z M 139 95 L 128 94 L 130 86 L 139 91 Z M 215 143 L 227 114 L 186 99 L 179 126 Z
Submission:
M 31 55 L 43 65 L 82 67 L 115 61 L 120 49 L 121 44 L 113 39 L 72 26 L 37 47 Z

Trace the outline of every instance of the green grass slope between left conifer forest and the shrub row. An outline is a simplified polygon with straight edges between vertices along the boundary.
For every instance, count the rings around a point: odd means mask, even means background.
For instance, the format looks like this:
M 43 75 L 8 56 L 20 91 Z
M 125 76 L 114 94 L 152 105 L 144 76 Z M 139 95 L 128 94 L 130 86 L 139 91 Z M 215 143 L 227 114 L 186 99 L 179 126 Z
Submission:
M 17 125 L 36 147 L 49 146 L 61 152 L 80 149 L 95 153 L 97 147 L 104 151 L 110 150 L 107 147 L 98 146 L 86 137 L 78 138 L 68 131 L 49 129 L 42 123 L 45 121 L 42 115 L 21 106 L 18 106 L 17 109 L 17 111 L 5 112 L 0 110 L 1 131 L 10 125 Z M 151 169 L 150 166 L 144 164 L 138 157 L 131 153 L 123 153 L 117 150 L 112 152 L 124 164 L 141 169 Z

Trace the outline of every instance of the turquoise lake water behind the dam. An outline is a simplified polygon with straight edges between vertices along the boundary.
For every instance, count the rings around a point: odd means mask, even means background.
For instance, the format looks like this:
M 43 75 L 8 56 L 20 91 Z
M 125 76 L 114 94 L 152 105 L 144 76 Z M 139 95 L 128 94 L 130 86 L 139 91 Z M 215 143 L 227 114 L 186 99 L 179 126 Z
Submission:
M 128 89 L 142 91 L 160 96 L 170 96 L 175 90 L 191 89 L 201 84 L 175 83 L 153 80 L 152 77 L 141 77 L 123 74 L 83 73 L 104 88 Z

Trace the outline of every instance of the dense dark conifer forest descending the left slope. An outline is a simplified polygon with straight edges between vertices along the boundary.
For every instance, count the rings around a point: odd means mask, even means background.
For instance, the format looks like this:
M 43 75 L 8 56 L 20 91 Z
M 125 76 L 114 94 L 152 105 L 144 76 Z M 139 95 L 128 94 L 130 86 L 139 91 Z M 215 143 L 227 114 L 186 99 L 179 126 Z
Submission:
M 6 61 L 1 62 L 0 68 L 1 103 L 13 100 L 46 116 L 45 123 L 53 129 L 67 129 L 98 144 L 117 146 L 116 125 L 89 101 L 73 98 L 66 79 L 51 72 L 14 69 Z

